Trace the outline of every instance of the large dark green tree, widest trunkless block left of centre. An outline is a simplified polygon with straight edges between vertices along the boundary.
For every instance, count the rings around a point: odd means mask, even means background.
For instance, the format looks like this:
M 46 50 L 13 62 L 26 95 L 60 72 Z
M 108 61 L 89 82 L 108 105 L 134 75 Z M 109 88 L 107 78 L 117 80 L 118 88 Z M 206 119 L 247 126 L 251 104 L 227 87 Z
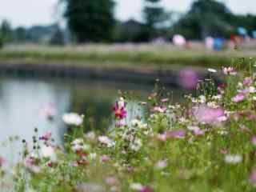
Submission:
M 112 0 L 66 0 L 65 17 L 78 42 L 112 39 L 115 26 Z

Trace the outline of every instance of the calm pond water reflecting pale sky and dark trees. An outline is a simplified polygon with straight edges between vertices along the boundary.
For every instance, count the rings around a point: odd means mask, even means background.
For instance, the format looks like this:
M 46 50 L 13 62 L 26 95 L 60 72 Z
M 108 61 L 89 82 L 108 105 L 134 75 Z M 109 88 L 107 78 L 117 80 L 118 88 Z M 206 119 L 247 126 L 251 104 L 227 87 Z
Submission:
M 152 89 L 153 86 L 110 82 L 2 77 L 0 142 L 14 135 L 32 142 L 34 128 L 38 127 L 39 134 L 51 131 L 56 142 L 62 143 L 63 134 L 66 132 L 62 114 L 70 111 L 86 114 L 86 129 L 107 129 L 112 123 L 111 106 L 118 97 L 118 90 L 133 90 L 140 100 Z M 53 122 L 49 122 L 40 113 L 49 103 L 54 103 L 58 111 Z M 130 107 L 136 108 L 136 105 Z M 21 142 L 2 147 L 1 155 L 16 161 L 18 157 L 14 157 L 14 154 L 18 153 L 20 146 Z

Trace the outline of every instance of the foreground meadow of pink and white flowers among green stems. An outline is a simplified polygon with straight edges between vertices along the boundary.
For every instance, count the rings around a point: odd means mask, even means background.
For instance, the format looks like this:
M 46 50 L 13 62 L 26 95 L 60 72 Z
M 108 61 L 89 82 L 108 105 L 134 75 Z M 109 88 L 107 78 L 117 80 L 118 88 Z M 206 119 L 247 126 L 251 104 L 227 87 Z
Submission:
M 206 78 L 184 70 L 190 94 L 182 103 L 159 83 L 134 110 L 120 93 L 103 131 L 87 130 L 86 114 L 63 114 L 64 143 L 38 127 L 32 143 L 20 142 L 14 166 L 1 156 L 1 191 L 255 191 L 255 70 L 252 59 L 248 67 L 208 69 Z M 53 105 L 45 110 L 49 121 L 55 114 Z

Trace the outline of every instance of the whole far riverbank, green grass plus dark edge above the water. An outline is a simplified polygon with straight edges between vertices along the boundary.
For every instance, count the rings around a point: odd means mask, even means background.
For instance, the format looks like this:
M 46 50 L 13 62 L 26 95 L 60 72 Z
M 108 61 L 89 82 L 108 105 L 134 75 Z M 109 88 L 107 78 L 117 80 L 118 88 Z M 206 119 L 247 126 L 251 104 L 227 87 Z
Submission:
M 246 68 L 247 63 L 254 62 L 254 55 L 252 50 L 214 52 L 150 45 L 6 46 L 0 51 L 0 71 L 143 84 L 159 79 L 166 85 L 177 86 L 179 71 L 184 68 L 192 68 L 205 77 L 206 68 L 220 69 L 234 63 Z

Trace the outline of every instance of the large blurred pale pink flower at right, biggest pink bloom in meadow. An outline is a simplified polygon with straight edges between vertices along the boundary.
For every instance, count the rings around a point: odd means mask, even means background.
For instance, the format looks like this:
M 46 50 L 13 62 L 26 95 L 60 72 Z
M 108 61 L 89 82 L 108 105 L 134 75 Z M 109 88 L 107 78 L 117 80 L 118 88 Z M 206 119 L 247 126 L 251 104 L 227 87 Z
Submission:
M 194 118 L 202 123 L 212 124 L 218 122 L 218 118 L 221 118 L 224 115 L 224 110 L 220 107 L 215 109 L 206 105 L 201 105 L 194 110 Z

